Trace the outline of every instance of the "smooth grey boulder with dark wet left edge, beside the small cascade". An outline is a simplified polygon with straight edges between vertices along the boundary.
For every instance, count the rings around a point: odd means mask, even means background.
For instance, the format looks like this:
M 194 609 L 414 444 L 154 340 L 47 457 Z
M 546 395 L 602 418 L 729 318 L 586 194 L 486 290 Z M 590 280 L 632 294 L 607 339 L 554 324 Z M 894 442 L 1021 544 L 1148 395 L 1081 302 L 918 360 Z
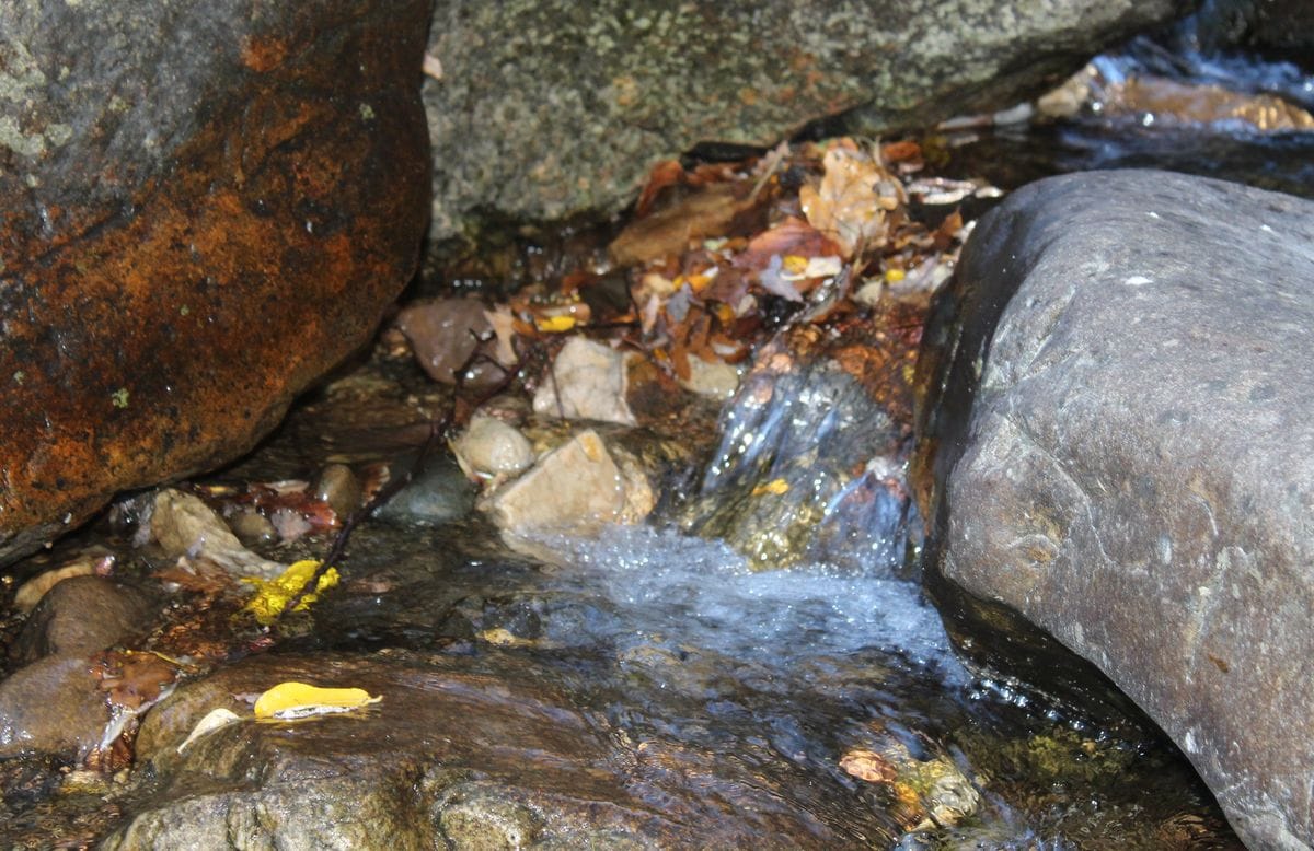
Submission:
M 933 570 L 1108 674 L 1256 848 L 1314 844 L 1310 246 L 1294 197 L 1054 177 L 928 330 Z

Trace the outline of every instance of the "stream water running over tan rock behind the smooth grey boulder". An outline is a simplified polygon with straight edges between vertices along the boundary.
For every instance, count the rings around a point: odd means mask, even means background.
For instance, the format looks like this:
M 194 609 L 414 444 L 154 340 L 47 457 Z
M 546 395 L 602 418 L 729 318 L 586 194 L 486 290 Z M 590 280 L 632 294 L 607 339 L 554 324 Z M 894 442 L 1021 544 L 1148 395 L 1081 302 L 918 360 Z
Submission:
M 1205 51 L 1190 18 L 1095 59 L 1076 114 L 951 135 L 947 173 L 1018 186 L 1050 175 L 1163 168 L 1314 197 L 1314 67 Z M 1150 80 L 1144 97 L 1123 97 Z M 1236 100 L 1231 93 L 1250 100 Z

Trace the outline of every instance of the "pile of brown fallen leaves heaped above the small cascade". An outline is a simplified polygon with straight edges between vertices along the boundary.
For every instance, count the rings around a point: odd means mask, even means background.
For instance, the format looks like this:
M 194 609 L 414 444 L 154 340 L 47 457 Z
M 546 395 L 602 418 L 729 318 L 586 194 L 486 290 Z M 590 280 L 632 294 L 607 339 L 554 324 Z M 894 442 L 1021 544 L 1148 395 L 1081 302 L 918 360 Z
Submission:
M 920 177 L 924 168 L 916 142 L 848 138 L 740 163 L 660 163 L 607 250 L 611 268 L 574 271 L 555 292 L 530 288 L 490 311 L 501 349 L 606 335 L 689 382 L 699 361 L 741 364 L 784 324 L 861 320 L 883 299 L 925 307 L 968 231 L 954 205 L 1000 192 Z M 615 286 L 618 268 L 624 297 L 590 297 Z

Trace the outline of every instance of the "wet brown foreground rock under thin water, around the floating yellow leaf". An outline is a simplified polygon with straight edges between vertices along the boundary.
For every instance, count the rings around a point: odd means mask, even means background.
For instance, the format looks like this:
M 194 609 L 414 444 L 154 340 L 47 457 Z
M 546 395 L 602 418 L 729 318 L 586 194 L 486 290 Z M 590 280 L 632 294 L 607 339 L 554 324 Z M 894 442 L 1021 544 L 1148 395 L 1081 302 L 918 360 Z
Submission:
M 482 655 L 261 657 L 180 689 L 138 739 L 163 779 L 159 805 L 105 847 L 374 847 L 384 837 L 402 848 L 432 847 L 435 838 L 455 847 L 611 847 L 618 837 L 633 847 L 840 840 L 824 821 L 783 806 L 753 770 L 632 741 L 576 703 L 569 680 Z M 234 697 L 284 680 L 359 687 L 382 701 L 350 717 L 256 722 Z M 248 717 L 179 755 L 192 726 L 221 707 Z

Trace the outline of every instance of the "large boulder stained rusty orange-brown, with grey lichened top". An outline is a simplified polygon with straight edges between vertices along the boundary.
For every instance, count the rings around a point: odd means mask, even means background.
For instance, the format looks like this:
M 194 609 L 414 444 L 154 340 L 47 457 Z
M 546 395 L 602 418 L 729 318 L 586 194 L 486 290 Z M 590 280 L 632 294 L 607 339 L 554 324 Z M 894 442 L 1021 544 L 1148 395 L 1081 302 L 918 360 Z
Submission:
M 368 338 L 424 230 L 428 12 L 0 5 L 0 565 Z

